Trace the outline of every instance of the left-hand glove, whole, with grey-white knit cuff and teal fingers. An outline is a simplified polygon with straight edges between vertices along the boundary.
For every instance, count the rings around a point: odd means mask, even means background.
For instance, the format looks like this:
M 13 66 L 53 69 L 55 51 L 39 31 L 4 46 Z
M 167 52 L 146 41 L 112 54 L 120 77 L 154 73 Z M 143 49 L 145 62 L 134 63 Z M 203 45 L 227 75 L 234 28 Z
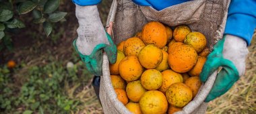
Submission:
M 74 40 L 73 46 L 85 62 L 87 70 L 96 76 L 101 76 L 102 51 L 106 52 L 110 64 L 113 64 L 117 59 L 117 46 L 105 32 L 96 5 L 76 5 L 75 15 L 79 27 L 77 28 L 78 38 Z

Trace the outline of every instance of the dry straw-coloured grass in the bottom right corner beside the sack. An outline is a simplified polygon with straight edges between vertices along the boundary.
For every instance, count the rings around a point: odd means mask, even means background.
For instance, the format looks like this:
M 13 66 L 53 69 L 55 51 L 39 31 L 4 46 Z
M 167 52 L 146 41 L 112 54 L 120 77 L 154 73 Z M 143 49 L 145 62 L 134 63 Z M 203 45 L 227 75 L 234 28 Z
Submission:
M 256 36 L 247 58 L 247 70 L 236 84 L 222 97 L 209 103 L 207 113 L 255 113 L 256 112 Z

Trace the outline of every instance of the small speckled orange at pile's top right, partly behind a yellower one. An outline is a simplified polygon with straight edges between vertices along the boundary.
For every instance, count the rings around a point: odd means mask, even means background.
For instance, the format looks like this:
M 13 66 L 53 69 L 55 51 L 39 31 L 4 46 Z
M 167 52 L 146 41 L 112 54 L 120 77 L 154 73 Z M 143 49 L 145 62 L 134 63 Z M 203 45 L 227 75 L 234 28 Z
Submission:
M 179 25 L 175 27 L 173 31 L 173 38 L 177 42 L 184 42 L 187 34 L 191 32 L 190 28 L 187 25 Z

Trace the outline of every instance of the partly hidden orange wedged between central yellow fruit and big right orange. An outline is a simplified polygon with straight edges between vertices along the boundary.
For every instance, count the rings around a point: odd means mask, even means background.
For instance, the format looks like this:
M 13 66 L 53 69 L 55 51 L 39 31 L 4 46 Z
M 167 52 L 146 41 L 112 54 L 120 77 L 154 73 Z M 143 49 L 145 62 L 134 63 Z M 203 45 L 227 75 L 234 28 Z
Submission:
M 162 62 L 156 67 L 156 70 L 163 71 L 170 68 L 168 64 L 168 53 L 162 50 Z

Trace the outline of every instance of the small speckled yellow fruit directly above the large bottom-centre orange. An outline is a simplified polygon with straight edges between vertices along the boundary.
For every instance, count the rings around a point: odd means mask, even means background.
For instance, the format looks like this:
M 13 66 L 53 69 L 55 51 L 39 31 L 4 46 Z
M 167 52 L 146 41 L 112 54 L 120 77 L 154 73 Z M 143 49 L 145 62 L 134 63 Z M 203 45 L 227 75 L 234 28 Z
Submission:
M 141 75 L 141 84 L 145 89 L 156 90 L 162 85 L 162 74 L 156 69 L 148 69 Z

